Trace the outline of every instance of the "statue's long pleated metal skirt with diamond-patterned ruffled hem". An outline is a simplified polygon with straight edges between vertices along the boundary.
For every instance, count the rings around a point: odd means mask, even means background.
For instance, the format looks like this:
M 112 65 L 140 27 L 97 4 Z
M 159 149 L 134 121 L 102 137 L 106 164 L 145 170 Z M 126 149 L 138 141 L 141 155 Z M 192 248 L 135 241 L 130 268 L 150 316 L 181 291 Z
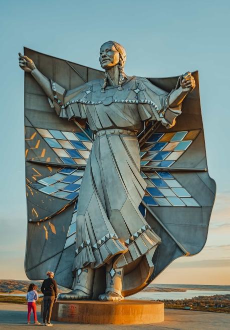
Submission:
M 156 248 L 160 238 L 138 208 L 145 188 L 136 135 L 97 136 L 78 198 L 73 271 L 111 260 L 123 267 Z

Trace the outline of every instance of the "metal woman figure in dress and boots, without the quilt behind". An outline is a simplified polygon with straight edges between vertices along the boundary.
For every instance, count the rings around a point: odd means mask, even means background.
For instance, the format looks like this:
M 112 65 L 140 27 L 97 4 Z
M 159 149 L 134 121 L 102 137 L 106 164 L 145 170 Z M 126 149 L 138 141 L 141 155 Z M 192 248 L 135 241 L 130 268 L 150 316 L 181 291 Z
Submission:
M 151 278 L 162 237 L 139 207 L 147 183 L 141 173 L 137 135 L 147 122 L 158 121 L 162 124 L 158 129 L 171 129 L 176 117 L 183 116 L 184 98 L 195 88 L 190 72 L 180 76 L 171 91 L 147 78 L 127 76 L 126 51 L 115 41 L 102 44 L 99 60 L 104 79 L 67 90 L 60 81 L 45 76 L 31 58 L 21 53 L 19 58 L 20 67 L 42 87 L 53 111 L 65 120 L 87 121 L 95 136 L 78 196 L 76 247 L 69 270 L 72 291 L 61 294 L 61 299 L 91 298 L 103 280 L 100 276 L 95 280 L 99 268 L 106 283 L 98 298 L 104 301 L 119 301 L 138 292 Z M 173 206 L 168 200 L 168 206 Z M 193 200 L 193 205 L 184 206 L 199 206 Z

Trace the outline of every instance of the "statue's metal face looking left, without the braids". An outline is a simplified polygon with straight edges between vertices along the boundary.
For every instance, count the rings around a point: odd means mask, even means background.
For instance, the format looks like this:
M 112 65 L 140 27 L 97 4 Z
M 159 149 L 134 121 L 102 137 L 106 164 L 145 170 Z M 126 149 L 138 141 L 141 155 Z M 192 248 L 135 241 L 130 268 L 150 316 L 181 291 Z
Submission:
M 119 51 L 116 50 L 112 43 L 103 43 L 100 49 L 99 57 L 101 67 L 105 70 L 108 70 L 111 67 L 117 65 L 119 63 L 119 56 Z

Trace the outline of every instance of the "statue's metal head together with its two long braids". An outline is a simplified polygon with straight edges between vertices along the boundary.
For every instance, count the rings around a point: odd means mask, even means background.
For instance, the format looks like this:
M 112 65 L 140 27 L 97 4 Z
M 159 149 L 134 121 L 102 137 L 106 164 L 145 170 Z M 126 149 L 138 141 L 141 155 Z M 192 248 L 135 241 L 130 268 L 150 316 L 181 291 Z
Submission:
M 119 89 L 123 89 L 121 85 L 125 80 L 125 73 L 124 73 L 124 66 L 126 61 L 125 48 L 118 42 L 111 40 L 107 41 L 101 45 L 99 60 L 101 67 L 105 69 L 105 79 L 101 91 L 102 92 L 105 91 L 105 87 L 107 86 L 108 83 L 106 70 L 112 68 L 115 65 L 118 65 L 118 69 L 119 69 Z

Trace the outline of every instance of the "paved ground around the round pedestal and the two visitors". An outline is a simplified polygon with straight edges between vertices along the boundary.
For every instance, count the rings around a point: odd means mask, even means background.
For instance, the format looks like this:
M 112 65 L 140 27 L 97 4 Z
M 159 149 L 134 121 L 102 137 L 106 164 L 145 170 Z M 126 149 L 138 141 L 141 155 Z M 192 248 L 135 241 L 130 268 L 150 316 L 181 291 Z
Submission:
M 38 306 L 38 319 L 40 307 Z M 31 329 L 39 325 L 27 325 L 27 305 L 0 303 L 0 329 Z M 145 325 L 87 325 L 53 322 L 55 330 L 206 330 L 229 329 L 230 314 L 192 310 L 165 309 L 165 321 Z

